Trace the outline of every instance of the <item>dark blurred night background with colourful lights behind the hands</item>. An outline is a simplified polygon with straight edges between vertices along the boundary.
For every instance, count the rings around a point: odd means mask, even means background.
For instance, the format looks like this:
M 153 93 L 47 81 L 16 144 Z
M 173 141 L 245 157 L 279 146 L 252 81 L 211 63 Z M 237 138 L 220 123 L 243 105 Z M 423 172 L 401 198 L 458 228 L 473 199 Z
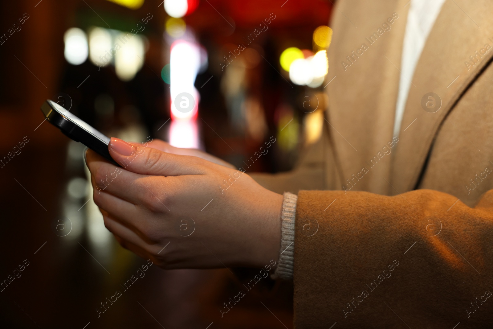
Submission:
M 270 279 L 221 317 L 256 269 L 153 265 L 125 290 L 145 260 L 104 227 L 84 146 L 39 108 L 244 168 L 273 136 L 246 172 L 287 171 L 321 132 L 331 1 L 38 1 L 0 3 L 0 326 L 292 328 L 292 286 Z

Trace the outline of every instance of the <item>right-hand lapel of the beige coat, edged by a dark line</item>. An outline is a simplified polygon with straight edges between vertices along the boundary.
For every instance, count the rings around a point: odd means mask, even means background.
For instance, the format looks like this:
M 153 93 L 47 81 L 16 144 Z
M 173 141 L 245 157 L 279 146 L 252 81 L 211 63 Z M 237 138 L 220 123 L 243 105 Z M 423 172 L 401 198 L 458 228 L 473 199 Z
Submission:
M 390 182 L 395 190 L 390 194 L 412 190 L 419 182 L 441 123 L 493 57 L 493 2 L 471 4 L 447 0 L 424 45 L 392 158 Z

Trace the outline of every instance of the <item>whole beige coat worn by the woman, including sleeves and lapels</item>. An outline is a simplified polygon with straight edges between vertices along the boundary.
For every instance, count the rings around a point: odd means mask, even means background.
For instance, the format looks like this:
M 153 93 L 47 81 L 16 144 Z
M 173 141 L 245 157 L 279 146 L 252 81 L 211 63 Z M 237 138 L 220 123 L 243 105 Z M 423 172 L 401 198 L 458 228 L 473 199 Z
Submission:
M 408 1 L 335 3 L 324 134 L 255 177 L 298 193 L 296 328 L 493 326 L 493 2 L 445 1 L 394 138 Z

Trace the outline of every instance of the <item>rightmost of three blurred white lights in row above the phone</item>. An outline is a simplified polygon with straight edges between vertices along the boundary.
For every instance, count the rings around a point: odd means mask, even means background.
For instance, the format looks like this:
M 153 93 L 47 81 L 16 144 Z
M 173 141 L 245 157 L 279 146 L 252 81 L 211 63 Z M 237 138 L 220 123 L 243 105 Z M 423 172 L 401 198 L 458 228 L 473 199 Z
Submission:
M 117 39 L 121 40 L 123 37 L 132 36 L 131 33 L 122 33 Z M 134 78 L 135 74 L 139 72 L 143 65 L 144 60 L 144 42 L 141 37 L 133 36 L 121 47 L 121 49 L 111 50 L 115 58 L 115 72 L 116 75 L 123 81 L 129 81 Z

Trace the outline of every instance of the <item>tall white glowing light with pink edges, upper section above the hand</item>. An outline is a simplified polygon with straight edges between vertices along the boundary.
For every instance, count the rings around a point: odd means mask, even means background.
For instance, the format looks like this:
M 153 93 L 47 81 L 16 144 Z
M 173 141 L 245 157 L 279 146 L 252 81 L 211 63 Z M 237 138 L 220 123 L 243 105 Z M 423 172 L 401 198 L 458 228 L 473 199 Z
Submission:
M 195 43 L 178 40 L 171 45 L 170 54 L 170 96 L 171 113 L 176 119 L 190 119 L 197 113 L 199 92 L 194 86 L 195 78 L 200 69 L 200 50 Z M 186 93 L 186 94 L 184 94 Z M 185 95 L 188 98 L 185 99 Z M 177 103 L 175 104 L 175 101 Z M 190 110 L 183 109 L 182 104 L 194 106 Z M 186 105 L 186 104 L 185 104 Z

